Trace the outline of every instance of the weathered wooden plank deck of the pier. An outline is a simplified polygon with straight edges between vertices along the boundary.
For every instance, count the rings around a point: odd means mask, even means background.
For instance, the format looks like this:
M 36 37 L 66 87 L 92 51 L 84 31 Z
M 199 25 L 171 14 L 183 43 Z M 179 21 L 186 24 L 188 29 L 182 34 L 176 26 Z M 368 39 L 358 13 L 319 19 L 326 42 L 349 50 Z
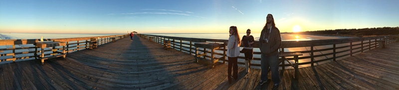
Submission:
M 67 54 L 66 58 L 0 65 L 0 90 L 271 90 L 258 86 L 261 71 L 227 81 L 227 64 L 208 69 L 178 50 L 134 37 Z M 279 90 L 399 90 L 399 43 L 340 61 L 280 70 Z M 270 73 L 269 73 L 270 76 Z M 297 83 L 296 83 L 297 82 Z

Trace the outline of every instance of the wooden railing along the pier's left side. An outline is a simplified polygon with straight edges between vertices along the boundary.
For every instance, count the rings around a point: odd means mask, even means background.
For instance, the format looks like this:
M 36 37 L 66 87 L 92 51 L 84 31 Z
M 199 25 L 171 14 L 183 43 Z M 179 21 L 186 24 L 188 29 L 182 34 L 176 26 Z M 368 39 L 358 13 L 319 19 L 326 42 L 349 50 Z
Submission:
M 111 42 L 111 38 L 115 40 L 122 39 L 129 35 L 109 35 L 109 36 L 95 36 L 95 37 L 77 37 L 77 38 L 57 38 L 57 39 L 43 39 L 44 42 L 66 42 L 66 53 L 72 53 L 79 50 L 89 48 L 89 41 L 91 38 L 96 38 L 98 45 Z M 34 43 L 39 39 L 9 39 L 0 40 L 0 62 L 15 60 L 31 60 L 34 59 L 34 53 L 40 55 L 35 49 L 40 51 L 40 48 L 35 47 Z M 4 48 L 5 47 L 5 48 Z M 51 47 L 53 49 L 62 50 L 62 46 Z M 51 56 L 48 52 L 52 49 L 45 48 L 45 57 Z M 47 52 L 47 53 L 46 53 Z

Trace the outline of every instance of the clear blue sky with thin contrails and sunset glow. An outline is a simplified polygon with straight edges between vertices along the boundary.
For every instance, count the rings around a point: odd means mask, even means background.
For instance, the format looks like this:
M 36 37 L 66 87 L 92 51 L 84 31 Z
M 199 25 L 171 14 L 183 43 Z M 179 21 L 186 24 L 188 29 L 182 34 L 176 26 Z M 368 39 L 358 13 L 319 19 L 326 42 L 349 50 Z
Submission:
M 259 33 L 399 26 L 399 0 L 0 0 L 0 33 Z M 298 29 L 299 28 L 299 29 Z

